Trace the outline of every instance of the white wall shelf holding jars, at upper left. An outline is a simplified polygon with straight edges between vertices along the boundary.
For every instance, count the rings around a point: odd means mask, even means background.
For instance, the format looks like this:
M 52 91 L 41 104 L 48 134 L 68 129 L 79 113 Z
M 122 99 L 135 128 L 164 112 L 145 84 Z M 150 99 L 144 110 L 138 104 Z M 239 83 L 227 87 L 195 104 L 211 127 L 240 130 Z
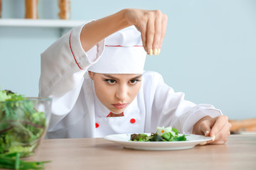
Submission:
M 58 19 L 0 19 L 0 26 L 74 28 L 85 21 Z

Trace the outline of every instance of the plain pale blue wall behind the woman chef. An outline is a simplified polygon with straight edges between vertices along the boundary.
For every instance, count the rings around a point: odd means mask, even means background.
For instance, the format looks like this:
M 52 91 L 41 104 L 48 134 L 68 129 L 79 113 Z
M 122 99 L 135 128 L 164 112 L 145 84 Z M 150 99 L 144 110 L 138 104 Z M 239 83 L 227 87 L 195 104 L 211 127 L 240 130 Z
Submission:
M 2 18 L 23 18 L 23 0 L 2 0 Z M 231 119 L 256 117 L 255 0 L 71 0 L 73 20 L 97 19 L 122 8 L 160 9 L 169 23 L 158 57 L 146 69 L 194 103 L 212 103 Z M 39 0 L 39 18 L 58 18 L 57 0 Z M 0 86 L 37 96 L 40 54 L 57 28 L 0 27 Z

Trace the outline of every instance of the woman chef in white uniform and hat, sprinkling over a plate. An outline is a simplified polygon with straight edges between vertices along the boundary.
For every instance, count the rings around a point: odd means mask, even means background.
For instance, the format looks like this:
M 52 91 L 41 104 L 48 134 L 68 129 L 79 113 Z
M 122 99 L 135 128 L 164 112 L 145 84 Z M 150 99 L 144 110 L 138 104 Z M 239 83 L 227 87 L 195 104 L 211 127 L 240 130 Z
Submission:
M 144 71 L 146 53 L 159 55 L 166 24 L 161 11 L 123 9 L 70 30 L 48 47 L 39 83 L 39 95 L 53 98 L 47 136 L 104 137 L 172 126 L 225 143 L 225 115 L 184 100 L 160 74 Z

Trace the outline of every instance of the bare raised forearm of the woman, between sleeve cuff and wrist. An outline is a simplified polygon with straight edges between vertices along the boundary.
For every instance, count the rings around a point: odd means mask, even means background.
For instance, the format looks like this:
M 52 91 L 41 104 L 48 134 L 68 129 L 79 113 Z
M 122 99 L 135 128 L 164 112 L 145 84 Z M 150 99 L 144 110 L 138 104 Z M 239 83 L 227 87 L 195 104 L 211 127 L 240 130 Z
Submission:
M 130 26 L 125 17 L 127 9 L 85 24 L 80 33 L 82 48 L 87 52 L 112 33 Z

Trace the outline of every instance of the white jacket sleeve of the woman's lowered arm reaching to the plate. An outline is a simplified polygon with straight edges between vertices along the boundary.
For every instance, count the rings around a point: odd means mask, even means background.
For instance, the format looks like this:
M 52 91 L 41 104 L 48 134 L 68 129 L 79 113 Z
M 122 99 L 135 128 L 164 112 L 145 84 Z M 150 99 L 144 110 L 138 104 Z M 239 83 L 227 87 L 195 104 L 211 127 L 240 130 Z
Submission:
M 154 74 L 154 100 L 152 103 L 152 120 L 154 126 L 172 126 L 179 132 L 191 133 L 193 125 L 209 115 L 212 118 L 222 115 L 221 111 L 210 104 L 198 104 L 186 101 L 184 94 L 175 92 L 164 83 L 160 74 Z

